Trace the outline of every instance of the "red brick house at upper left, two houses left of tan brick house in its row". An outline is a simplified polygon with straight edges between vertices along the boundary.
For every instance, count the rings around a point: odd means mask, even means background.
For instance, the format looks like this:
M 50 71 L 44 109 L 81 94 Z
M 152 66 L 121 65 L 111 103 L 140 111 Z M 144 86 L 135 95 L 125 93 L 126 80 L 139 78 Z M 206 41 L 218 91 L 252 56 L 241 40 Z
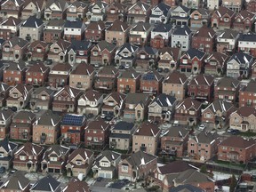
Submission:
M 48 80 L 50 72 L 49 67 L 45 67 L 43 63 L 37 63 L 26 71 L 26 84 L 44 85 Z

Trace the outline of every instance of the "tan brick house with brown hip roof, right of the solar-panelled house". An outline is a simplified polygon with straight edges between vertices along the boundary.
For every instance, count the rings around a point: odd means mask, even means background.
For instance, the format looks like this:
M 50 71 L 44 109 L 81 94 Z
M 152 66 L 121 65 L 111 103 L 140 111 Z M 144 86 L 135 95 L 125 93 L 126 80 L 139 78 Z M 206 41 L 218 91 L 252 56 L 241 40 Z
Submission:
M 164 78 L 162 92 L 171 95 L 177 100 L 185 99 L 188 89 L 188 77 L 177 71 L 173 71 Z

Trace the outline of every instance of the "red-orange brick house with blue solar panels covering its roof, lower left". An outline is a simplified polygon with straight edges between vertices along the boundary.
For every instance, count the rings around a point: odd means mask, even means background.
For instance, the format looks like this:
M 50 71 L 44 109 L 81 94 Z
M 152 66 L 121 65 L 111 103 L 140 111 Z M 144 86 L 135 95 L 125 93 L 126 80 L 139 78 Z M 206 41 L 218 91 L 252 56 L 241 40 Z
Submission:
M 85 125 L 85 116 L 66 114 L 60 123 L 61 140 L 72 144 L 81 143 L 84 140 Z

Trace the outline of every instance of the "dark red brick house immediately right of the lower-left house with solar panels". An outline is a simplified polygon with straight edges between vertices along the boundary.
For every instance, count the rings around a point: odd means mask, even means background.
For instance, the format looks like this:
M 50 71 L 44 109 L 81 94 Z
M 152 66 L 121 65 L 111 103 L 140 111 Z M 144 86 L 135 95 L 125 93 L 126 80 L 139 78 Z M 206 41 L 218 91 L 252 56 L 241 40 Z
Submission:
M 110 124 L 98 118 L 90 121 L 84 128 L 84 145 L 93 149 L 106 148 Z

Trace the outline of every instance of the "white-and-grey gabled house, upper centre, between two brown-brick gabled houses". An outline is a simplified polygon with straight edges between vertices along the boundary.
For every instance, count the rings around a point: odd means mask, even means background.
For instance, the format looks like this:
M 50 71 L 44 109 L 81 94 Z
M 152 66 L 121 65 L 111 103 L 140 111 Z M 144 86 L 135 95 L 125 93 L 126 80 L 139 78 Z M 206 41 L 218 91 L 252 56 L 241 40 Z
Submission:
M 118 50 L 116 50 L 116 65 L 132 68 L 132 66 L 135 64 L 137 52 L 139 52 L 139 47 L 136 45 L 130 43 L 121 45 Z

